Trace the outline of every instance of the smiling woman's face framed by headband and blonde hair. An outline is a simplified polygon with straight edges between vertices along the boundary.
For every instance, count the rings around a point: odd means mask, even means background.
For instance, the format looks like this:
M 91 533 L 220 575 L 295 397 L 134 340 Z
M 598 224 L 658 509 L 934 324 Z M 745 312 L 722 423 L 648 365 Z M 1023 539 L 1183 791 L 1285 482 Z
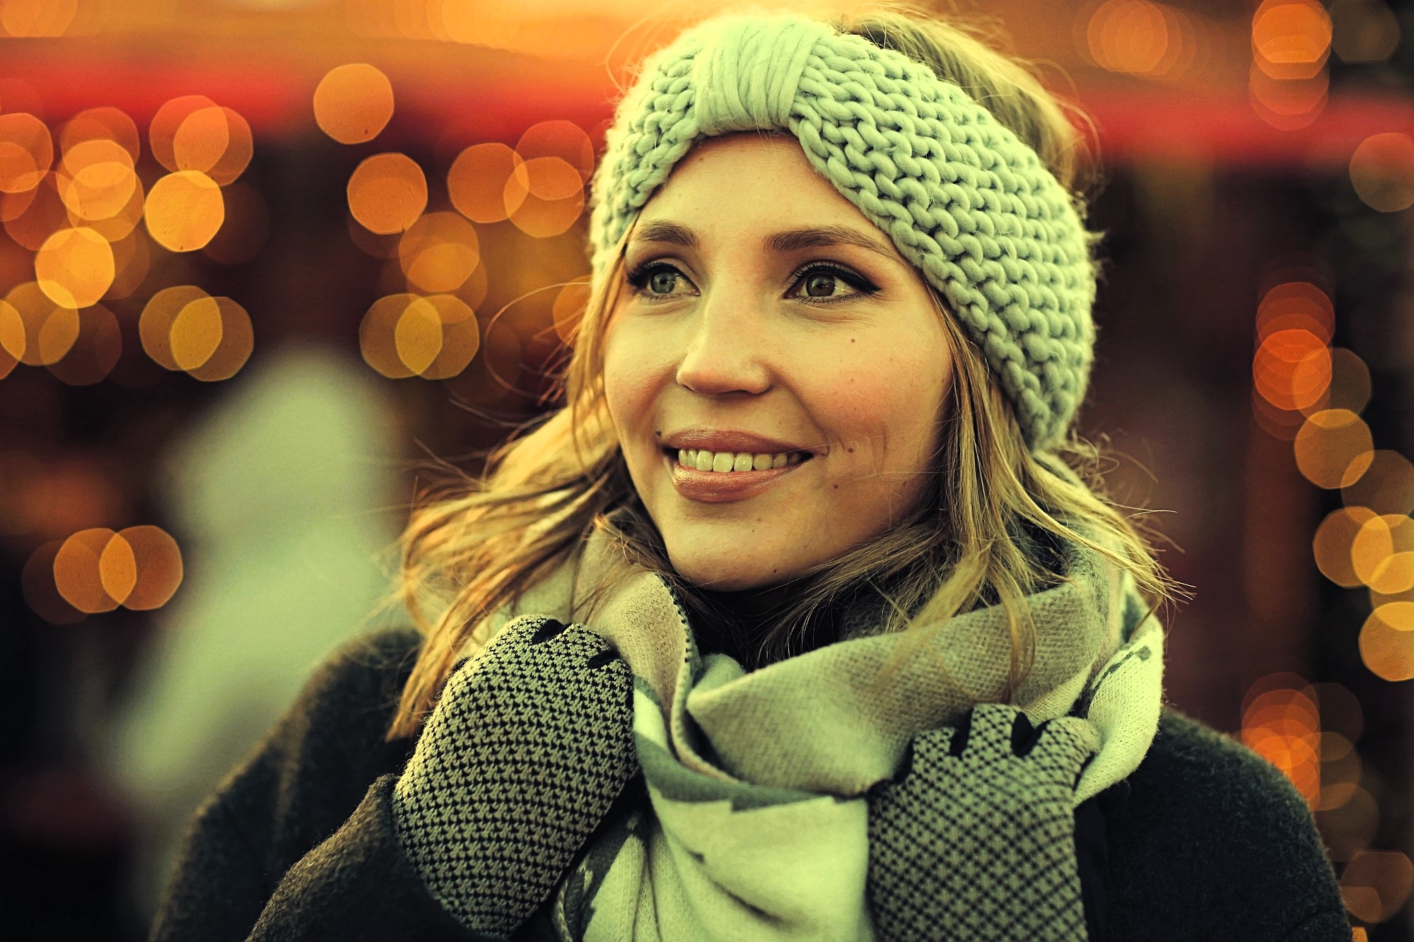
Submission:
M 694 147 L 626 252 L 608 409 L 683 578 L 775 586 L 915 506 L 947 339 L 918 270 L 793 137 Z M 680 448 L 707 454 L 689 468 Z

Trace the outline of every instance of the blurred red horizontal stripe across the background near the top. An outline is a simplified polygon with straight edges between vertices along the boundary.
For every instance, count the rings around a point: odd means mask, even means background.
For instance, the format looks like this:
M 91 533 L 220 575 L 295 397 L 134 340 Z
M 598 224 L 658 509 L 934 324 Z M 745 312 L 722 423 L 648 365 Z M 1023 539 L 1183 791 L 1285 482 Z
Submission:
M 308 69 L 262 62 L 257 68 L 154 66 L 132 59 L 11 61 L 0 78 L 28 82 L 45 117 L 57 123 L 96 105 L 116 105 L 146 130 L 163 102 L 178 95 L 206 95 L 240 112 L 257 136 L 314 133 L 311 100 L 318 76 Z M 612 113 L 615 89 L 602 68 L 563 65 L 536 74 L 498 72 L 478 64 L 455 76 L 392 74 L 399 110 L 378 139 L 382 146 L 436 141 L 447 127 L 467 140 L 515 139 L 530 124 L 561 117 L 598 137 Z M 1343 165 L 1356 146 L 1383 132 L 1414 134 L 1414 98 L 1335 95 L 1308 127 L 1277 130 L 1251 109 L 1246 91 L 1185 95 L 1159 89 L 1082 93 L 1096 119 L 1109 163 L 1147 158 L 1199 158 L 1220 165 Z M 0 102 L 4 107 L 4 102 Z M 4 109 L 11 110 L 11 109 Z

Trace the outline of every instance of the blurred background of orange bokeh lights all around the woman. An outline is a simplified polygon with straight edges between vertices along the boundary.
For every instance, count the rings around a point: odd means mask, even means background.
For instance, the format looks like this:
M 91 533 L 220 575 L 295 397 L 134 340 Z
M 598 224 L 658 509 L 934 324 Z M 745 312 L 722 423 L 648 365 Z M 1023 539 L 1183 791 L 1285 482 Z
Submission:
M 547 407 L 631 64 L 720 7 L 0 0 L 10 938 L 143 938 L 201 798 L 402 620 L 431 460 Z M 1094 117 L 1082 430 L 1193 587 L 1168 702 L 1291 777 L 1357 939 L 1414 938 L 1414 10 L 937 10 Z

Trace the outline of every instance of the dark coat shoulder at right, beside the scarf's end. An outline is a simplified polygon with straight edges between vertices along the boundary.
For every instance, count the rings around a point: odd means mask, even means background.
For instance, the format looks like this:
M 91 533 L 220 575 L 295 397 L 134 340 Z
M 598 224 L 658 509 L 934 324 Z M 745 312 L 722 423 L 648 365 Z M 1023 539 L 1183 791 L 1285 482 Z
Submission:
M 1309 806 L 1243 743 L 1164 707 L 1127 781 L 1107 815 L 1111 938 L 1284 939 L 1329 914 L 1346 925 Z

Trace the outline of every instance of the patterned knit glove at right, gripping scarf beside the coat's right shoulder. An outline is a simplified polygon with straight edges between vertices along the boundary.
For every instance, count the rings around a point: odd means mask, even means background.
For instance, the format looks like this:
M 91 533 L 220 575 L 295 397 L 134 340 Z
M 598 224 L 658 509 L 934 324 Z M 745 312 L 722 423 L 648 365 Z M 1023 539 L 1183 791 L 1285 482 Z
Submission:
M 880 942 L 1085 939 L 1075 786 L 1099 745 L 1087 720 L 995 703 L 916 735 L 867 796 Z

